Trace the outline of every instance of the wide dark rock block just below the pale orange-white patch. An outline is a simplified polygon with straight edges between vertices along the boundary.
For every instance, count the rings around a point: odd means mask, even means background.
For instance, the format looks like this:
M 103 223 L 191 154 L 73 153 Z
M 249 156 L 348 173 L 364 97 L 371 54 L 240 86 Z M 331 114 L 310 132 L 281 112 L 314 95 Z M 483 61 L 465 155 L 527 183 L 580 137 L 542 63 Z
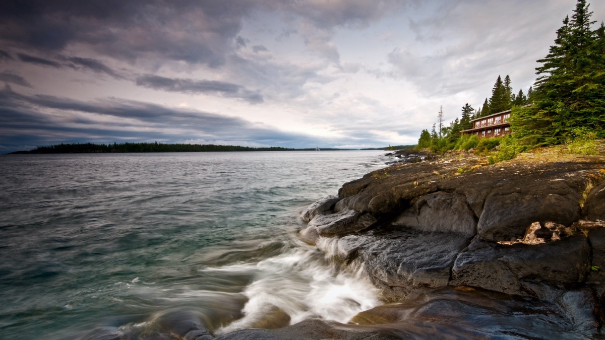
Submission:
M 570 287 L 586 280 L 590 269 L 586 237 L 511 246 L 474 240 L 456 258 L 450 284 L 516 295 L 539 296 L 532 283 Z

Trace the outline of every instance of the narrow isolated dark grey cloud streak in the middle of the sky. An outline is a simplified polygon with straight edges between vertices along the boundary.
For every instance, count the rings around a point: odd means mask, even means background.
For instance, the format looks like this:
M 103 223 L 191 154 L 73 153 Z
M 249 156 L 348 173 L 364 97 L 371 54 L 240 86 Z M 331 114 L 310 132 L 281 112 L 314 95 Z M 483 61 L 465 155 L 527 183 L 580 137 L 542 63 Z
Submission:
M 218 82 L 216 80 L 172 79 L 146 74 L 138 77 L 136 83 L 139 86 L 155 90 L 188 94 L 211 93 L 223 97 L 244 99 L 250 103 L 263 102 L 263 97 L 258 93 L 246 90 L 246 88 L 234 83 Z

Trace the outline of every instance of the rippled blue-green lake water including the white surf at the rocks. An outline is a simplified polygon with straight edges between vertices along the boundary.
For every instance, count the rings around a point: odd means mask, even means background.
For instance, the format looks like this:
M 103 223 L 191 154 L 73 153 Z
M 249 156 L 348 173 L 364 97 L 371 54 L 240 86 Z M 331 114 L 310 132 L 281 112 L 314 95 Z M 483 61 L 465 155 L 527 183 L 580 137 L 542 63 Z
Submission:
M 0 338 L 347 322 L 376 292 L 298 240 L 299 212 L 382 154 L 1 155 Z

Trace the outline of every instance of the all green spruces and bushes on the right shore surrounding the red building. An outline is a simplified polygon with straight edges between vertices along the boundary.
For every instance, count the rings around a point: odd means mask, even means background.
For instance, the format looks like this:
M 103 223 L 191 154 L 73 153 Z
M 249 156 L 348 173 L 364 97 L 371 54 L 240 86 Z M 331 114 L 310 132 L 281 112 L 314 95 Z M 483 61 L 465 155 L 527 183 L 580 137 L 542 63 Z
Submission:
M 498 76 L 492 95 L 475 110 L 468 103 L 462 116 L 443 126 L 443 110 L 429 132 L 422 130 L 417 148 L 434 152 L 471 149 L 485 152 L 500 146 L 497 161 L 531 148 L 565 144 L 588 146 L 605 138 L 605 24 L 596 29 L 586 0 L 577 0 L 574 13 L 563 19 L 549 53 L 537 60 L 537 79 L 528 94 L 514 94 L 511 79 Z M 531 105 L 528 105 L 531 104 Z M 511 134 L 483 138 L 460 131 L 471 120 L 511 110 Z

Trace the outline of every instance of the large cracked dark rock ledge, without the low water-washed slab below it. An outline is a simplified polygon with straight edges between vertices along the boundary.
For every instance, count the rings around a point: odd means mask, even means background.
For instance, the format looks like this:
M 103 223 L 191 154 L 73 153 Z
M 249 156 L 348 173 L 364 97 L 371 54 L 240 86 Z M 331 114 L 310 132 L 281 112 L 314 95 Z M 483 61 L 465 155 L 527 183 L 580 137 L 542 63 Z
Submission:
M 314 204 L 322 209 L 307 209 L 300 235 L 319 246 L 333 238 L 337 246 L 324 251 L 362 268 L 385 302 L 466 287 L 552 304 L 557 318 L 571 320 L 566 337 L 599 337 L 604 179 L 603 155 L 557 149 L 494 165 L 471 154 L 397 164 L 345 183 L 338 200 Z M 370 324 L 401 322 L 381 314 L 397 308 L 385 310 L 372 312 Z

